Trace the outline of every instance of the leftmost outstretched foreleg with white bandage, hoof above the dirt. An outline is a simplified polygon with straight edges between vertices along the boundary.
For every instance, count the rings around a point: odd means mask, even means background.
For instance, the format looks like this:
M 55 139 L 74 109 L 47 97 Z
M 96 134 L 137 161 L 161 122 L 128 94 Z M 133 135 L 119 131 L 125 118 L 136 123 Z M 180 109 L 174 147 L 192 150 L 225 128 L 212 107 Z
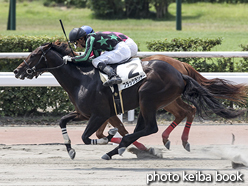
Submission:
M 66 124 L 73 120 L 74 118 L 78 117 L 79 114 L 77 112 L 72 112 L 70 114 L 67 114 L 65 116 L 63 116 L 61 119 L 60 119 L 60 122 L 59 122 L 59 126 L 62 130 L 62 135 L 63 135 L 63 138 L 64 138 L 64 143 L 65 143 L 65 146 L 66 146 L 66 150 L 70 156 L 71 159 L 74 159 L 75 158 L 75 155 L 76 155 L 76 152 L 75 150 L 71 147 L 71 140 L 69 138 L 69 135 L 67 133 L 67 129 L 66 129 Z

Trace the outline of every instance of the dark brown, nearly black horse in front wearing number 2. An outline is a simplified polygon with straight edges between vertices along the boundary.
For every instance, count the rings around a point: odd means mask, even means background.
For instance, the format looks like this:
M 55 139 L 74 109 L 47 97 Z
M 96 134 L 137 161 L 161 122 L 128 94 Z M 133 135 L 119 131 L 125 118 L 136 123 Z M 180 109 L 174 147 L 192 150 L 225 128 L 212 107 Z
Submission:
M 89 118 L 82 140 L 85 144 L 91 144 L 94 140 L 90 136 L 108 118 L 115 115 L 112 92 L 109 87 L 102 85 L 99 71 L 91 63 L 65 65 L 62 57 L 69 53 L 70 51 L 56 44 L 46 43 L 31 52 L 14 70 L 14 74 L 16 78 L 32 79 L 44 71 L 52 73 L 68 93 L 76 111 Z M 164 61 L 142 62 L 142 67 L 147 77 L 122 91 L 124 110 L 140 107 L 135 130 L 124 136 L 118 147 L 103 155 L 103 159 L 109 160 L 113 155 L 122 155 L 140 137 L 156 133 L 156 111 L 180 96 L 191 102 L 199 115 L 212 112 L 224 118 L 235 118 L 243 114 L 241 110 L 225 108 L 225 105 L 214 98 L 214 94 Z

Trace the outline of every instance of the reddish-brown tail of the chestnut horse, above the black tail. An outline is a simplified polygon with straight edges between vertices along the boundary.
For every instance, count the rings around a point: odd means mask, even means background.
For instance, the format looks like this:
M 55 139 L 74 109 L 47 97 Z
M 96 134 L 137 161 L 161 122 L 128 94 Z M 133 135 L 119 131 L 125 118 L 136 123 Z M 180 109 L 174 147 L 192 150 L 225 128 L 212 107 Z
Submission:
M 215 97 L 241 104 L 246 103 L 248 86 L 244 84 L 234 84 L 231 81 L 219 78 L 207 79 L 189 64 L 183 62 L 183 65 L 187 69 L 188 75 L 195 79 L 200 85 L 207 88 Z

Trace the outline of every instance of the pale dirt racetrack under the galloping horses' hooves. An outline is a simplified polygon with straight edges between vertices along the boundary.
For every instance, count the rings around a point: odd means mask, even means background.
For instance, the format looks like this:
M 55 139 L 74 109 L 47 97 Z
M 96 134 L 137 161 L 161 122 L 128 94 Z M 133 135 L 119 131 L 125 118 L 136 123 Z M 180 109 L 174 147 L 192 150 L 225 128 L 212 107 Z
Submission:
M 0 185 L 248 185 L 248 125 L 192 126 L 191 152 L 181 146 L 183 126 L 170 135 L 170 150 L 161 141 L 165 126 L 159 129 L 139 141 L 163 158 L 125 151 L 106 161 L 101 156 L 116 146 L 82 144 L 84 127 L 68 126 L 75 160 L 58 126 L 0 127 Z M 233 169 L 232 161 L 245 166 Z

